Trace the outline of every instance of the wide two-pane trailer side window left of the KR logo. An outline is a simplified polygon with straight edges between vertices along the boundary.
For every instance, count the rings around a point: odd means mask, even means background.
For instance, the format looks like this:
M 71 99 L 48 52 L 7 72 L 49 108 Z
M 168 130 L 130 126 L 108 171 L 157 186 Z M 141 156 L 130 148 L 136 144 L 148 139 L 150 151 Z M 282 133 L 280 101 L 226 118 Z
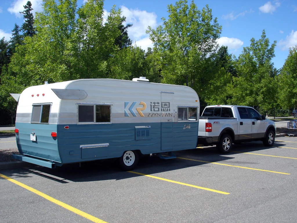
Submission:
M 78 105 L 78 123 L 110 123 L 110 105 Z

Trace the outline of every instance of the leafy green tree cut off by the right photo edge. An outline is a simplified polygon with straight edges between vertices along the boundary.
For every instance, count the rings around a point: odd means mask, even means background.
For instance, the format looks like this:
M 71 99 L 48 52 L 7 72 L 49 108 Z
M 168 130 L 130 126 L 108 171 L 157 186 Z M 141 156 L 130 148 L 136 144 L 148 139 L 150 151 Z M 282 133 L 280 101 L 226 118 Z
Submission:
M 289 55 L 280 74 L 278 102 L 282 108 L 290 109 L 297 106 L 297 46 L 289 49 Z

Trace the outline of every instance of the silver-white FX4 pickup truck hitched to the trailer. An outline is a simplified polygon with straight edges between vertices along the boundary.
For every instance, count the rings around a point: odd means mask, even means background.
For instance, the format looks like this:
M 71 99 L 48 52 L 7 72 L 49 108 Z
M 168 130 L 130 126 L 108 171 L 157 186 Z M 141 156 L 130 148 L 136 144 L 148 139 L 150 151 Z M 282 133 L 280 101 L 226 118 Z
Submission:
M 272 146 L 275 132 L 274 121 L 267 120 L 252 107 L 211 105 L 199 117 L 198 145 L 217 145 L 221 153 L 230 152 L 233 143 L 254 140 Z

